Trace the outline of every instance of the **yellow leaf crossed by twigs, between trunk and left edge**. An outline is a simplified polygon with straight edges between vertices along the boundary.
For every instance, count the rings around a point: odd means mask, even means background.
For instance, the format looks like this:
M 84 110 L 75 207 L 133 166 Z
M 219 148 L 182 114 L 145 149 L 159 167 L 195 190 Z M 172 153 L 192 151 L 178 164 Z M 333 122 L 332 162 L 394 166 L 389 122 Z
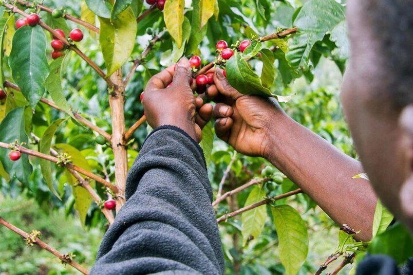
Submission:
M 72 157 L 71 161 L 74 165 L 82 167 L 88 171 L 91 170 L 91 167 L 86 158 L 75 147 L 72 147 L 68 144 L 56 144 L 55 147 L 59 151 L 69 154 Z M 67 169 L 65 174 L 67 180 L 73 186 L 73 196 L 75 197 L 75 209 L 79 212 L 80 221 L 82 222 L 82 224 L 84 224 L 86 220 L 86 215 L 88 213 L 88 209 L 92 203 L 92 199 L 85 188 L 81 186 L 75 186 L 76 180 Z M 90 184 L 92 185 L 92 187 L 94 187 L 94 182 L 91 182 Z

